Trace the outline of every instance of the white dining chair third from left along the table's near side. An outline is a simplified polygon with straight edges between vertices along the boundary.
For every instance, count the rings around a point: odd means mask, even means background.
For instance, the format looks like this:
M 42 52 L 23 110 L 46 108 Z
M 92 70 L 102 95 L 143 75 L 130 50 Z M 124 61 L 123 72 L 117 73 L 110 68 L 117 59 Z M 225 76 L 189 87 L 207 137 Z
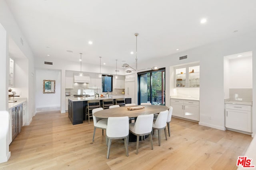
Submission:
M 154 123 L 153 123 L 153 130 L 154 129 L 158 130 L 158 145 L 159 146 L 161 146 L 161 130 L 162 129 L 164 129 L 165 140 L 167 140 L 167 135 L 166 135 L 167 116 L 168 116 L 168 110 L 160 111 L 156 121 L 154 121 Z

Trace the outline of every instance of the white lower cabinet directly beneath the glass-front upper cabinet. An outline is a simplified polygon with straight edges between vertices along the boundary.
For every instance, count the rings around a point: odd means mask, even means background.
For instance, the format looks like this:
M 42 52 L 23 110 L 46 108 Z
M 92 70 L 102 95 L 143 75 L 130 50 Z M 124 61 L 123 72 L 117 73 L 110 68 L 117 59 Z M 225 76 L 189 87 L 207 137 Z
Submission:
M 199 121 L 199 102 L 171 99 L 172 115 Z

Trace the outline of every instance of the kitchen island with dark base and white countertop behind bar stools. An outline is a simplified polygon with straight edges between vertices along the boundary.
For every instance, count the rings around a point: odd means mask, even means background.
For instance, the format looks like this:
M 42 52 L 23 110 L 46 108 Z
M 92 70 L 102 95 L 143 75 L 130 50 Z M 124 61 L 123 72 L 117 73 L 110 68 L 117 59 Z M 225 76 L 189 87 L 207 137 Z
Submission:
M 95 98 L 95 97 L 84 97 L 84 98 L 69 98 L 68 99 L 68 118 L 70 119 L 71 123 L 73 125 L 83 123 L 85 120 L 85 112 L 86 112 L 86 106 L 87 101 L 89 100 L 100 100 L 100 103 L 102 105 L 102 100 L 104 99 L 118 99 L 122 98 L 120 95 L 118 96 L 109 96 L 108 98 Z M 126 104 L 131 103 L 131 98 L 125 98 Z M 115 102 L 114 102 L 115 103 Z

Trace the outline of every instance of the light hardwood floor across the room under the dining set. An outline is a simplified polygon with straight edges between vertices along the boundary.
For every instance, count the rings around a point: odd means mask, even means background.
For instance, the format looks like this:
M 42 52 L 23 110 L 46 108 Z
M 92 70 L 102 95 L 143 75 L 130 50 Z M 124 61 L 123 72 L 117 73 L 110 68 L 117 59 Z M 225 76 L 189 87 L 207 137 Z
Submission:
M 106 159 L 105 131 L 96 130 L 92 142 L 93 122 L 72 125 L 67 113 L 37 113 L 29 126 L 10 144 L 11 157 L 0 164 L 4 170 L 233 170 L 238 156 L 243 156 L 252 137 L 233 131 L 221 131 L 198 123 L 172 118 L 171 137 L 165 141 L 162 131 L 158 146 L 157 131 L 150 140 L 128 145 L 113 140 L 110 158 Z

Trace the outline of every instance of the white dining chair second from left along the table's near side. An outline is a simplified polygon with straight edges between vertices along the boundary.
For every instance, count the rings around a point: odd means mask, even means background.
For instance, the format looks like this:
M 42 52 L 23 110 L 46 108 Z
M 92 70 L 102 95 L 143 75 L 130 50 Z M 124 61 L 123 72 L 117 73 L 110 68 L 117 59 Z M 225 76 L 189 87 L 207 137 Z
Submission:
M 136 154 L 138 154 L 140 136 L 149 135 L 151 141 L 151 149 L 153 149 L 152 141 L 152 124 L 154 115 L 139 115 L 135 123 L 129 124 L 130 132 L 137 136 Z

